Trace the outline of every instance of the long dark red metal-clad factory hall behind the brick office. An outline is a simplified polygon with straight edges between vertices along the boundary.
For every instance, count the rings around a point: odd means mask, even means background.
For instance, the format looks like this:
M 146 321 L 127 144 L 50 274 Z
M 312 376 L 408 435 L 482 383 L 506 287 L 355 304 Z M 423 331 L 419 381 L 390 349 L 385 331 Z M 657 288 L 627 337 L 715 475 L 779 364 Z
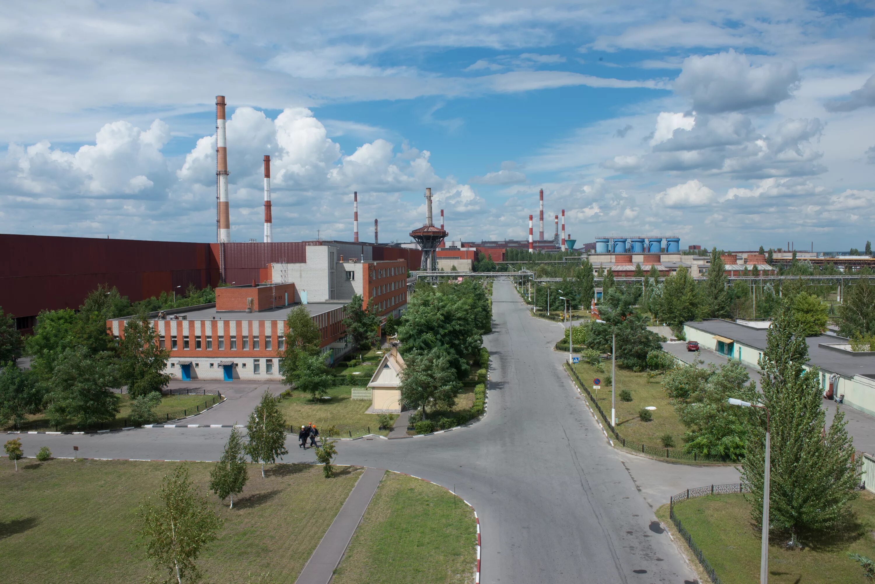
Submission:
M 98 285 L 116 286 L 131 302 L 218 285 L 250 284 L 275 262 L 303 263 L 308 245 L 333 245 L 346 257 L 404 259 L 416 270 L 422 251 L 329 241 L 276 243 L 152 242 L 91 237 L 0 234 L 0 307 L 29 333 L 40 310 L 78 308 Z M 223 270 L 224 269 L 224 270 Z M 178 288 L 178 286 L 180 286 Z

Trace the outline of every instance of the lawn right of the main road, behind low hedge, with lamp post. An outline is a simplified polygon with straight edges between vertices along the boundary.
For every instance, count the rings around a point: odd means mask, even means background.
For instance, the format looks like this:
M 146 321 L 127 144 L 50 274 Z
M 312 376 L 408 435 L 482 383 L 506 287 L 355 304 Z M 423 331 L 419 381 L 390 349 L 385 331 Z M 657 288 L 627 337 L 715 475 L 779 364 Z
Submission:
M 604 363 L 605 372 L 598 371 L 587 363 L 577 363 L 572 367 L 587 383 L 587 388 L 597 398 L 598 405 L 610 418 L 611 416 L 611 384 L 601 383 L 601 389 L 592 389 L 593 379 L 605 379 L 605 373 L 610 373 L 611 362 Z M 675 409 L 671 406 L 668 396 L 662 390 L 662 376 L 657 376 L 653 381 L 648 380 L 646 373 L 635 373 L 628 369 L 617 369 L 617 377 L 614 380 L 616 391 L 617 432 L 627 440 L 641 442 L 653 447 L 662 447 L 660 437 L 669 433 L 675 439 L 675 446 L 683 447 L 684 426 L 677 419 Z M 632 401 L 620 400 L 620 390 L 628 390 L 632 393 Z M 653 405 L 653 420 L 642 422 L 638 412 L 642 407 Z M 598 412 L 597 412 L 598 415 Z

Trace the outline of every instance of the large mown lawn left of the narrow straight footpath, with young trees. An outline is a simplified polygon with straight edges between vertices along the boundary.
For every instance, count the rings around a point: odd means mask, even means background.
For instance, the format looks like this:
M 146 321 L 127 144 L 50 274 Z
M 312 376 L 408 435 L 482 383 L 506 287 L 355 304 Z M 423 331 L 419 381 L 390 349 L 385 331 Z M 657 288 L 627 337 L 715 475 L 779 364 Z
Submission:
M 151 571 L 137 535 L 137 506 L 179 463 L 0 461 L 0 557 L 4 582 L 116 584 Z M 188 463 L 205 493 L 212 464 Z M 199 561 L 205 582 L 293 582 L 346 501 L 360 469 L 276 465 L 249 482 L 234 509 L 212 493 L 224 519 L 220 538 Z

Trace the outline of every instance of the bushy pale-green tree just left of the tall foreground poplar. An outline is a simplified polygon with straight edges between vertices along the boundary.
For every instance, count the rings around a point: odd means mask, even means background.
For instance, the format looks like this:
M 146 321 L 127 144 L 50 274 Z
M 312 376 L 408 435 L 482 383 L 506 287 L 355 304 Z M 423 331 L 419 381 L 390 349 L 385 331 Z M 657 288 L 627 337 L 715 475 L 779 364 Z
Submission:
M 759 395 L 750 382 L 747 369 L 730 361 L 720 366 L 701 369 L 696 364 L 690 377 L 703 379 L 690 388 L 685 398 L 674 399 L 675 410 L 687 431 L 683 435 L 683 451 L 719 456 L 731 461 L 744 458 L 747 444 L 747 423 L 750 411 L 728 404 L 729 398 L 756 402 Z

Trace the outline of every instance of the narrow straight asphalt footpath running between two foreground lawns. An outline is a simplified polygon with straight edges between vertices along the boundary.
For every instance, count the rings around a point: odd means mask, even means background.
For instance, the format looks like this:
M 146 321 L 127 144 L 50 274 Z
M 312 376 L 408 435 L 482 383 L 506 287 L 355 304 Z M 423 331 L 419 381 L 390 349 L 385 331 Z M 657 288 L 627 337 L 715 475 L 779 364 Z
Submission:
M 325 531 L 322 541 L 313 550 L 295 584 L 328 584 L 385 472 L 377 468 L 365 468 L 353 491 L 346 497 L 346 503 L 343 503 L 337 517 L 334 517 L 331 527 Z

